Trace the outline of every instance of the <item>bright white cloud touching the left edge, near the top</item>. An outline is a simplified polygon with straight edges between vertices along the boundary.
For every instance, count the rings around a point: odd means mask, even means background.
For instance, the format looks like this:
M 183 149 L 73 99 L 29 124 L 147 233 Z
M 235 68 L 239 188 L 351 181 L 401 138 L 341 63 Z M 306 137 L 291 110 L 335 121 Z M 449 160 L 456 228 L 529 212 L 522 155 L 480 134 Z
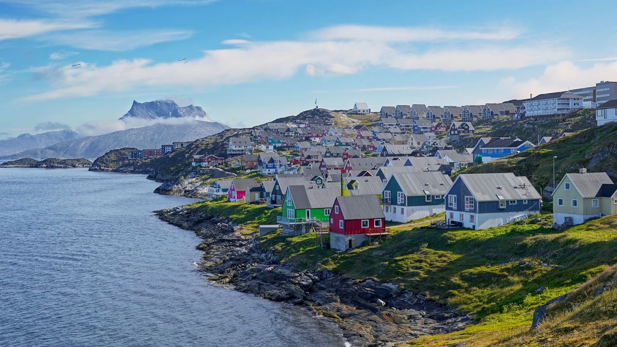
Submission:
M 89 22 L 0 19 L 0 40 L 24 38 L 49 33 L 52 31 L 75 30 L 91 27 L 94 27 L 94 24 Z

